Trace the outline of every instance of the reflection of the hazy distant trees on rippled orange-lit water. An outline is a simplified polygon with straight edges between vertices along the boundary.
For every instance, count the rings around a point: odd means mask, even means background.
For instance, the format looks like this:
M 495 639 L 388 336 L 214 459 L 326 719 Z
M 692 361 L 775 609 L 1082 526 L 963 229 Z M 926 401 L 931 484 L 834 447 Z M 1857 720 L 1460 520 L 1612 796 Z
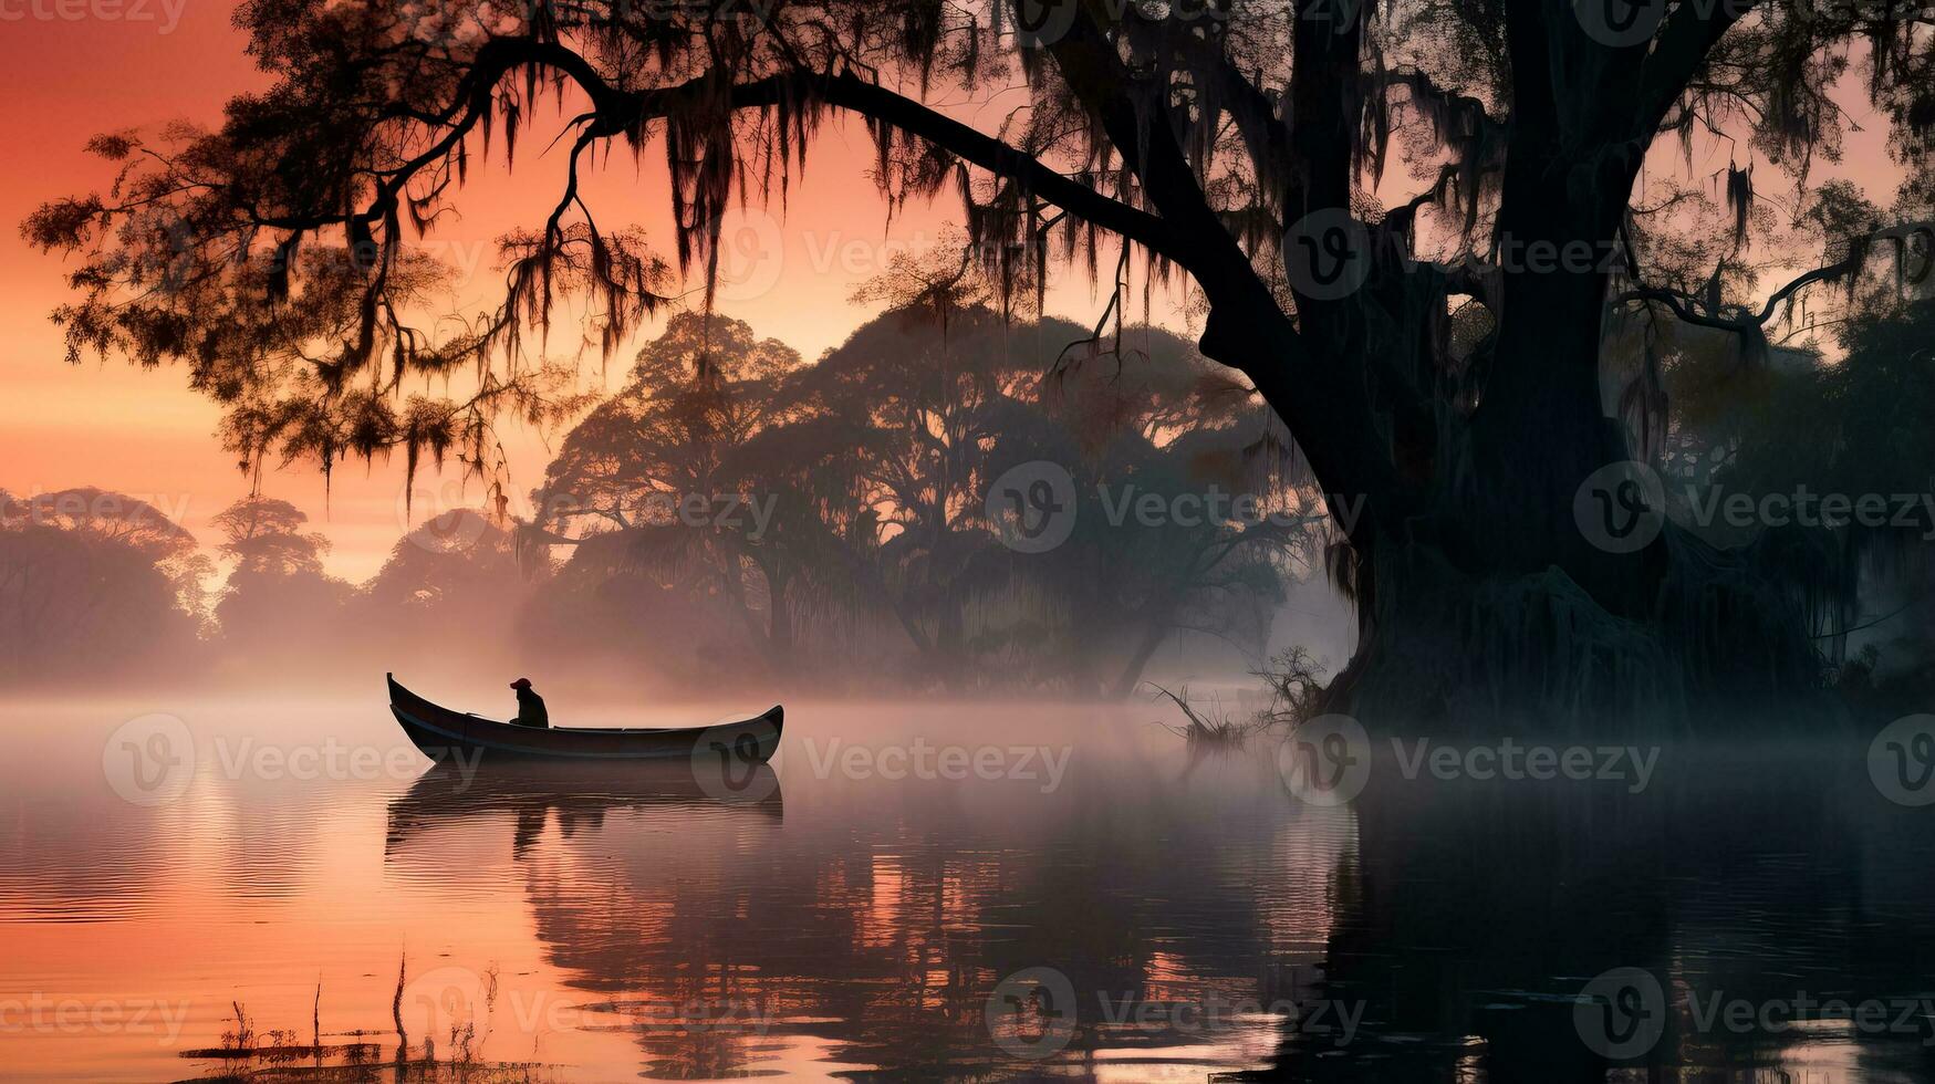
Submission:
M 1111 765 L 1047 794 L 807 774 L 784 821 L 778 788 L 426 776 L 391 803 L 385 863 L 451 881 L 453 856 L 507 848 L 571 1030 L 627 1034 L 646 1076 L 1202 1078 L 1269 1057 L 1265 1007 L 1314 979 L 1351 823 L 1287 805 L 1267 763 L 1182 774 Z M 1041 1057 L 989 1028 L 1027 968 L 1082 991 L 1084 1026 Z

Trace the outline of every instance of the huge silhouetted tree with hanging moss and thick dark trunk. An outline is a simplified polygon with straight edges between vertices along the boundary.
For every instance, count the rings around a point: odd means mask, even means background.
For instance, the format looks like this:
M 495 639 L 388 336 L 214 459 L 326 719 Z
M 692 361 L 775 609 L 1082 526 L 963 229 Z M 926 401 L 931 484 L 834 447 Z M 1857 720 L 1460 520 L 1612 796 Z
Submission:
M 116 188 L 29 219 L 35 244 L 91 252 L 58 314 L 72 348 L 184 360 L 252 463 L 271 443 L 327 467 L 457 441 L 484 465 L 491 410 L 544 410 L 528 329 L 565 290 L 588 298 L 584 341 L 604 350 L 671 300 L 656 250 L 598 225 L 584 170 L 662 153 L 670 248 L 710 283 L 728 207 L 784 194 L 820 124 L 853 112 L 882 196 L 960 192 L 1004 292 L 1039 290 L 1053 259 L 1095 267 L 1109 236 L 1126 250 L 1118 292 L 1130 265 L 1190 283 L 1204 354 L 1281 416 L 1333 513 L 1354 509 L 1337 519 L 1339 583 L 1360 645 L 1339 703 L 1382 689 L 1416 707 L 1476 683 L 1585 707 L 1581 691 L 1813 681 L 1817 654 L 1765 571 L 1672 527 L 1606 552 L 1567 509 L 1633 457 L 1602 397 L 1608 308 L 1726 329 L 1751 358 L 1803 292 L 1927 248 L 1890 232 L 1906 203 L 1879 230 L 1831 219 L 1805 238 L 1819 267 L 1743 300 L 1757 188 L 1805 184 L 1840 153 L 1850 43 L 1867 106 L 1920 170 L 1929 15 L 1749 0 L 490 12 L 244 6 L 273 89 L 213 132 L 95 139 L 126 163 Z M 993 128 L 944 105 L 1016 75 L 1027 108 L 995 110 Z M 553 103 L 571 168 L 544 223 L 505 242 L 505 304 L 414 325 L 435 269 L 412 236 Z M 1662 136 L 1734 155 L 1716 223 L 1730 240 L 1697 283 L 1662 257 L 1689 228 L 1678 203 L 1635 184 L 1670 165 L 1649 155 Z M 1378 190 L 1405 184 L 1393 166 L 1422 192 L 1384 205 Z M 1463 354 L 1459 304 L 1490 323 Z M 410 376 L 464 370 L 482 374 L 474 399 L 404 397 Z M 1362 681 L 1374 670 L 1403 681 Z

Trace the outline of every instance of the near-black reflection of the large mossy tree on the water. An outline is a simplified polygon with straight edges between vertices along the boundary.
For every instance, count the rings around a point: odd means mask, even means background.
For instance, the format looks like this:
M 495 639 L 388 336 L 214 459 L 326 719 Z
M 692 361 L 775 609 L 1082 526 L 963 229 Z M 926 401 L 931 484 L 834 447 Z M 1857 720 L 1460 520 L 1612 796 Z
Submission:
M 1252 1078 L 1929 1078 L 1931 838 L 1850 749 L 1668 749 L 1645 794 L 1387 772 L 1325 950 L 1366 1028 Z

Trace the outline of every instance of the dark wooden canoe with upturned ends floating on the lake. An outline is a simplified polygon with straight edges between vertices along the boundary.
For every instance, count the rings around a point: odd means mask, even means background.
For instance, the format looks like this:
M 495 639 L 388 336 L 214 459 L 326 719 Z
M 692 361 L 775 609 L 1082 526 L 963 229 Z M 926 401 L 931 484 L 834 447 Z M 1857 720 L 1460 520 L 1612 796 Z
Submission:
M 497 761 L 670 761 L 687 759 L 724 768 L 764 765 L 780 747 L 786 712 L 772 705 L 764 714 L 712 726 L 671 730 L 635 728 L 536 728 L 515 726 L 472 712 L 459 712 L 418 697 L 389 679 L 389 710 L 426 757 L 464 765 Z

